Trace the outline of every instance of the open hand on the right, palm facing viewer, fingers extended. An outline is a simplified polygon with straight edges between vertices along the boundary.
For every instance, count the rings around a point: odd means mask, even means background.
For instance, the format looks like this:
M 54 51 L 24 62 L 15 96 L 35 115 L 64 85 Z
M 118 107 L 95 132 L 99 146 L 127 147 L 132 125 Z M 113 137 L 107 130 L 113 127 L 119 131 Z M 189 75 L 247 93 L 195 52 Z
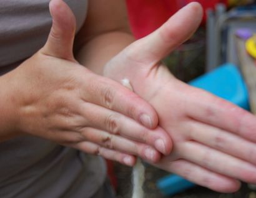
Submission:
M 114 57 L 104 73 L 117 82 L 128 78 L 170 134 L 174 149 L 155 166 L 215 191 L 234 192 L 239 180 L 256 182 L 255 116 L 180 82 L 160 64 L 194 33 L 201 18 L 199 4 L 189 4 Z

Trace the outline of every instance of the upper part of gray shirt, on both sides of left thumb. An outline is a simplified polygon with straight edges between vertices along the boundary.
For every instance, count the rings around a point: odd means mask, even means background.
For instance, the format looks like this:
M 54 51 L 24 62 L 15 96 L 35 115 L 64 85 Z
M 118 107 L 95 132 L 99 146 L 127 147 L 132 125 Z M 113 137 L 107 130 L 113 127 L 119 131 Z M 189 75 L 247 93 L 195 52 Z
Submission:
M 0 67 L 27 59 L 45 44 L 51 29 L 50 0 L 0 1 Z M 66 0 L 77 31 L 86 18 L 86 0 Z

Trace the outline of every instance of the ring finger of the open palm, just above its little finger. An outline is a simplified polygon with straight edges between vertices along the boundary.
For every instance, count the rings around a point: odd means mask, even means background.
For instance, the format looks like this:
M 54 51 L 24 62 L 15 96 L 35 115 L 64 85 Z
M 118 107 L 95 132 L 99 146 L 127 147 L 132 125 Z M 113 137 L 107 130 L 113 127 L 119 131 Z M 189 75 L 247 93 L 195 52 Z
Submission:
M 212 148 L 189 142 L 177 149 L 180 157 L 210 171 L 245 182 L 256 183 L 256 167 Z

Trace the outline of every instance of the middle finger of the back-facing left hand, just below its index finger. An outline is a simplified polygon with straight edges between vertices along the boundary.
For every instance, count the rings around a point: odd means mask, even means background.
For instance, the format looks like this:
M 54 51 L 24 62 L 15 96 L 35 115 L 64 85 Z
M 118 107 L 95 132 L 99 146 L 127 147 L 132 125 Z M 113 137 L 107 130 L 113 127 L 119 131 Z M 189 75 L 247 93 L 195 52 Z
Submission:
M 163 154 L 169 154 L 172 149 L 170 136 L 160 127 L 149 130 L 127 116 L 92 103 L 83 103 L 79 109 L 82 117 L 86 118 L 84 126 L 149 144 Z

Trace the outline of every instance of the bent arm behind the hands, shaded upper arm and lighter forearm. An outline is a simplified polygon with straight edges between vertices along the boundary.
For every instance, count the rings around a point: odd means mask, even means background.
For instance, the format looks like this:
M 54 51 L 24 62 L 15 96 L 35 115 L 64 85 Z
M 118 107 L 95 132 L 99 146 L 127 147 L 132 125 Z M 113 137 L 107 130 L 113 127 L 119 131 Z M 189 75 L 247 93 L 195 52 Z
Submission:
M 102 74 L 104 65 L 132 42 L 125 0 L 89 1 L 86 22 L 76 37 L 76 58 L 82 65 Z

